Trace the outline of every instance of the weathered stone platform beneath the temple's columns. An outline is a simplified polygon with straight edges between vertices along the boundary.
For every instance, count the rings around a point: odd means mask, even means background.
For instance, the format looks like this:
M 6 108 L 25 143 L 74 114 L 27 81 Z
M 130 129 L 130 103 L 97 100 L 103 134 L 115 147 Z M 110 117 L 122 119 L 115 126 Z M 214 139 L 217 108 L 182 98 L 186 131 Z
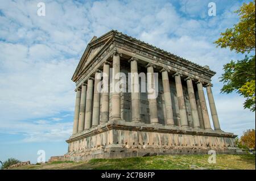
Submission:
M 162 154 L 239 154 L 236 135 L 222 131 L 181 128 L 113 120 L 73 134 L 64 160 L 128 158 Z

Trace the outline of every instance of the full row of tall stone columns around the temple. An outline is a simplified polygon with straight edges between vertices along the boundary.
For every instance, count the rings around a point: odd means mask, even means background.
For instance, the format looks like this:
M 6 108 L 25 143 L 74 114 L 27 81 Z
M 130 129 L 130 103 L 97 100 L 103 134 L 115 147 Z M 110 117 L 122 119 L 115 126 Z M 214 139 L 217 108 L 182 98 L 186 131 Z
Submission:
M 114 52 L 113 54 L 113 76 L 120 72 L 120 54 Z M 131 58 L 130 60 L 131 73 L 138 73 L 138 63 L 137 58 Z M 154 64 L 148 64 L 146 66 L 148 75 L 152 76 L 151 79 L 147 78 L 147 85 L 155 87 L 154 79 Z M 109 62 L 104 62 L 103 72 L 104 77 L 102 79 L 102 99 L 100 93 L 99 82 L 101 81 L 101 76 L 99 72 L 94 74 L 94 78 L 89 78 L 87 84 L 84 83 L 81 86 L 81 89 L 77 89 L 76 95 L 76 105 L 75 105 L 75 116 L 73 124 L 73 134 L 81 132 L 84 129 L 90 129 L 91 127 L 97 127 L 100 124 L 100 115 L 101 122 L 106 123 L 109 120 L 109 74 L 110 74 Z M 166 124 L 174 125 L 174 115 L 172 110 L 171 102 L 171 91 L 170 91 L 170 81 L 168 77 L 168 69 L 160 70 L 162 73 L 163 81 L 163 98 L 165 103 L 166 111 Z M 175 78 L 176 85 L 176 94 L 179 106 L 180 113 L 180 126 L 188 127 L 187 112 L 185 107 L 183 87 L 181 84 L 181 75 L 175 73 L 172 75 Z M 149 82 L 149 80 L 151 80 Z M 120 81 L 119 76 L 115 76 L 113 79 L 114 85 Z M 205 95 L 203 90 L 203 85 L 200 81 L 197 81 L 197 90 L 199 96 L 199 103 L 196 103 L 195 92 L 193 89 L 193 82 L 190 77 L 185 78 L 187 82 L 187 89 L 189 95 L 189 103 L 191 105 L 191 114 L 193 119 L 193 128 L 201 128 L 200 118 L 203 120 L 204 129 L 211 129 L 210 119 L 207 110 L 207 104 L 205 102 Z M 94 84 L 93 84 L 94 82 Z M 101 86 L 101 85 L 100 85 Z M 216 106 L 213 99 L 213 94 L 210 84 L 207 87 L 207 95 L 210 105 L 210 112 L 212 114 L 213 125 L 215 130 L 220 130 L 220 124 L 218 121 Z M 94 87 L 94 92 L 93 92 Z M 139 77 L 132 77 L 131 89 L 131 114 L 132 121 L 141 121 L 140 116 L 140 100 L 139 100 Z M 158 110 L 157 110 L 157 101 L 154 96 L 150 96 L 154 92 L 148 92 L 148 107 L 150 110 L 150 123 L 159 124 L 158 120 Z M 100 99 L 102 101 L 100 109 Z M 200 104 L 200 109 L 197 107 L 197 104 Z M 200 112 L 199 112 L 200 111 Z M 112 93 L 112 119 L 121 119 L 121 104 L 120 104 L 120 93 L 116 92 L 115 89 Z M 92 124 L 92 125 L 91 125 Z

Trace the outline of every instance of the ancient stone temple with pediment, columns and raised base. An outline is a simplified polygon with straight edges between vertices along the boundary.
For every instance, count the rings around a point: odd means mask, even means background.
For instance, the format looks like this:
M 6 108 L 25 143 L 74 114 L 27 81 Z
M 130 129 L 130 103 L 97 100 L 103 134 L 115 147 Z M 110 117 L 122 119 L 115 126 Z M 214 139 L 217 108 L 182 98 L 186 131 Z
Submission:
M 120 76 L 114 76 L 117 73 Z M 129 73 L 139 76 L 129 79 Z M 209 66 L 118 31 L 94 36 L 72 77 L 76 83 L 73 134 L 61 159 L 240 152 L 236 135 L 221 130 L 212 94 L 214 74 Z M 138 86 L 139 91 L 128 91 Z M 141 91 L 151 86 L 157 87 L 153 93 Z

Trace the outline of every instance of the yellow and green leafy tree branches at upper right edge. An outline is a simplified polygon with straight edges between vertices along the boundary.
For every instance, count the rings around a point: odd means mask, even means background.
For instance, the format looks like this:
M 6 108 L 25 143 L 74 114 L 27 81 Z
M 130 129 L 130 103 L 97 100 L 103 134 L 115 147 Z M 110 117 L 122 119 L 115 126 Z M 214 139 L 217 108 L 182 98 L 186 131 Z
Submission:
M 235 12 L 240 16 L 240 22 L 221 33 L 221 37 L 214 43 L 217 47 L 229 47 L 237 53 L 255 54 L 255 0 L 243 3 L 240 10 Z M 232 60 L 224 65 L 220 81 L 224 83 L 222 93 L 238 92 L 246 98 L 243 107 L 255 111 L 255 55 L 246 55 L 243 60 Z

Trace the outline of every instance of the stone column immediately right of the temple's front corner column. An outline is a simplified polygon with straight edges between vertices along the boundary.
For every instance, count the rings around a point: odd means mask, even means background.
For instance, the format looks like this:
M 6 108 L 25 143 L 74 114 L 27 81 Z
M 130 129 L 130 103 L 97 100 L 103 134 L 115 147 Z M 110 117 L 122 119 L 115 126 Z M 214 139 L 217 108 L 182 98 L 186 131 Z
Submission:
M 139 107 L 139 76 L 137 58 L 132 57 L 131 62 L 131 115 L 132 121 L 141 121 L 140 107 Z

